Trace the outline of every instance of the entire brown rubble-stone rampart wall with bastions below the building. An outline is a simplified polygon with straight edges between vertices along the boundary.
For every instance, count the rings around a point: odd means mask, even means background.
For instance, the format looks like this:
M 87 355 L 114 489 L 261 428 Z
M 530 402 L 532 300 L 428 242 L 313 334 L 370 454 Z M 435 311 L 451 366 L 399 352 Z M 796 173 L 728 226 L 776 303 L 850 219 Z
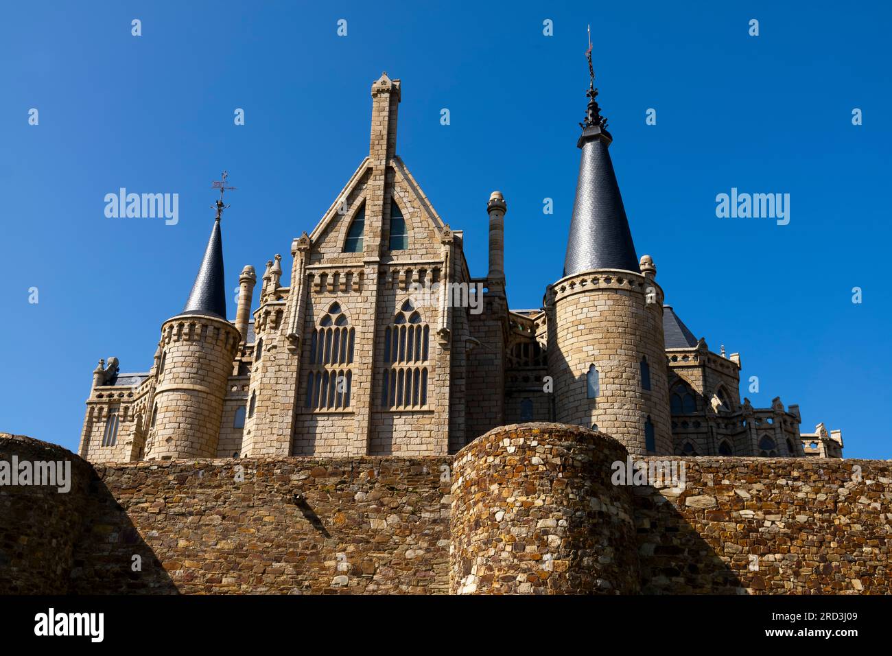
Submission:
M 890 461 L 650 456 L 683 486 L 615 485 L 622 444 L 546 423 L 455 456 L 93 466 L 3 434 L 0 482 L 13 454 L 73 481 L 0 485 L 12 593 L 892 592 Z

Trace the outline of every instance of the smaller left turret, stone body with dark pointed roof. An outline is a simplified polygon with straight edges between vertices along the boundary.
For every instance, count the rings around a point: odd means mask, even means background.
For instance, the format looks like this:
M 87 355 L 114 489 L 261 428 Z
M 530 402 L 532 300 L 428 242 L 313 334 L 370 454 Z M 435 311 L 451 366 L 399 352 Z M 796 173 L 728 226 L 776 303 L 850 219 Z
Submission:
M 217 218 L 186 307 L 161 326 L 155 417 L 146 460 L 217 455 L 223 397 L 241 335 L 226 318 L 223 242 Z

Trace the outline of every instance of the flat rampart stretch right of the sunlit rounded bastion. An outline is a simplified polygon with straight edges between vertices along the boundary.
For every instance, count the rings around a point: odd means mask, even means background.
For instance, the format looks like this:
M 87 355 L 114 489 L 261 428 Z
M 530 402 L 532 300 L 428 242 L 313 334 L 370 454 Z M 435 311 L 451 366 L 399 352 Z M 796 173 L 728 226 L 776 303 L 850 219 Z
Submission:
M 892 592 L 892 461 L 672 460 L 632 488 L 643 593 Z

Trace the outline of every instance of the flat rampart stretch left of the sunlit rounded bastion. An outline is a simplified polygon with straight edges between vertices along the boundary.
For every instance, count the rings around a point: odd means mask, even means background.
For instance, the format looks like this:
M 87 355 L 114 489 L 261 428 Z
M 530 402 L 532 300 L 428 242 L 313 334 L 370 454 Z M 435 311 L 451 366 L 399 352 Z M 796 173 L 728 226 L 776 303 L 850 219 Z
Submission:
M 449 458 L 97 466 L 78 593 L 447 590 Z M 145 543 L 133 542 L 135 527 Z M 142 571 L 131 563 L 140 556 Z

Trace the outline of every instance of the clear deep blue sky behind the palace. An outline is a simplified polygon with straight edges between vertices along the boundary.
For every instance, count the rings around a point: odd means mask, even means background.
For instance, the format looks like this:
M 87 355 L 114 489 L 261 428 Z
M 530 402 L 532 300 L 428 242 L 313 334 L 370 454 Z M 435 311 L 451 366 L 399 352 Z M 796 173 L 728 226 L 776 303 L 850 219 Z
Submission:
M 539 307 L 563 267 L 591 23 L 632 235 L 667 303 L 714 351 L 741 353 L 741 379 L 760 380 L 743 391 L 754 405 L 780 394 L 804 430 L 842 428 L 847 457 L 892 457 L 888 4 L 320 5 L 4 9 L 0 430 L 76 450 L 96 361 L 149 368 L 161 322 L 186 301 L 221 170 L 238 187 L 228 289 L 275 253 L 288 270 L 291 239 L 368 153 L 381 71 L 402 80 L 397 152 L 465 230 L 472 275 L 486 271 L 486 200 L 500 189 L 509 301 Z M 103 197 L 120 187 L 178 193 L 178 224 L 107 219 Z M 788 193 L 789 225 L 716 218 L 731 187 Z

